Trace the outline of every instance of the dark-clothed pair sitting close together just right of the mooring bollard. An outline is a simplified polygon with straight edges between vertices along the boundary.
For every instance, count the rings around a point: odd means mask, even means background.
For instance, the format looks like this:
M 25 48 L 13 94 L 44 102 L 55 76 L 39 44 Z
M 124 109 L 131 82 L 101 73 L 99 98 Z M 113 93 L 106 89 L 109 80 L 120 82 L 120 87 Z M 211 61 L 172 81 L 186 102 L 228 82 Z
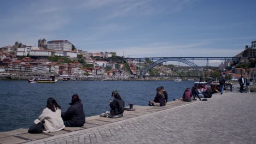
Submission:
M 163 86 L 156 88 L 154 100 L 149 100 L 150 106 L 165 106 L 168 101 L 168 94 Z

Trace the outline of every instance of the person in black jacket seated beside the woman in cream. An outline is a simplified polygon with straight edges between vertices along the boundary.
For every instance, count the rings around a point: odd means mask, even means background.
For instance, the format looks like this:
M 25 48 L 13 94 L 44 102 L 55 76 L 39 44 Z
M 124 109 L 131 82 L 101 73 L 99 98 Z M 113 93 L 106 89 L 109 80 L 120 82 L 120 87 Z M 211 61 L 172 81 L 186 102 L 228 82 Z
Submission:
M 85 123 L 84 107 L 77 94 L 71 99 L 71 105 L 66 112 L 61 113 L 61 117 L 66 127 L 82 127 Z

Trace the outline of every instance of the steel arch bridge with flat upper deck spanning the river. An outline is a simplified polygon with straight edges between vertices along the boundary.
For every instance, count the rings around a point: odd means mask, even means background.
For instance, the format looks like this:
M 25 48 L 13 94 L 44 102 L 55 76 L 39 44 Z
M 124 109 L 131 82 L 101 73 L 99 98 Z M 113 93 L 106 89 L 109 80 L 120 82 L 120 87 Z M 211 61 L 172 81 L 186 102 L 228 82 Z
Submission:
M 145 68 L 140 70 L 140 76 L 144 76 L 150 69 L 155 67 L 156 65 L 168 61 L 176 61 L 182 62 L 187 65 L 190 65 L 194 70 L 202 70 L 201 67 L 194 63 L 194 60 L 206 61 L 206 69 L 208 70 L 208 65 L 210 60 L 222 60 L 222 61 L 240 61 L 240 57 L 143 57 L 143 58 L 124 58 L 124 57 L 116 57 L 116 58 L 97 58 L 97 60 L 104 60 L 108 62 L 114 61 L 139 61 L 139 67 L 141 68 L 141 62 L 147 63 L 147 60 L 152 61 L 153 63 L 149 63 Z M 193 62 L 191 62 L 193 61 Z

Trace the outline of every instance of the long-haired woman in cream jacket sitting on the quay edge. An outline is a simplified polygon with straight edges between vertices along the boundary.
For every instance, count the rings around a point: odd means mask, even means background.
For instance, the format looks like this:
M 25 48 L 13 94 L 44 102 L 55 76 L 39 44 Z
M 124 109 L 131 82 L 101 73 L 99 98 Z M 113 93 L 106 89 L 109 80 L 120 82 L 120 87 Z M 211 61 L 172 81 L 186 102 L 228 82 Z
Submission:
M 60 131 L 65 128 L 61 118 L 61 107 L 54 98 L 48 98 L 46 108 L 34 124 L 28 129 L 28 133 L 50 133 Z

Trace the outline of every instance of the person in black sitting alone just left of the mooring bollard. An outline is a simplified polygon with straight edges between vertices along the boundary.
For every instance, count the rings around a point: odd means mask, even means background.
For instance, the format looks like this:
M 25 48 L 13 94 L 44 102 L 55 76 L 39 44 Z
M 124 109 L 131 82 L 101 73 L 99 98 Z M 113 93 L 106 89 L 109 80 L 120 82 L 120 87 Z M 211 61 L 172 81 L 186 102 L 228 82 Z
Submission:
M 110 103 L 109 107 L 111 110 L 106 111 L 105 113 L 102 113 L 100 117 L 109 117 L 109 118 L 123 117 L 124 106 L 125 106 L 124 100 L 120 97 L 117 90 L 114 90 L 112 92 L 112 97 L 114 97 L 114 100 L 109 101 Z

